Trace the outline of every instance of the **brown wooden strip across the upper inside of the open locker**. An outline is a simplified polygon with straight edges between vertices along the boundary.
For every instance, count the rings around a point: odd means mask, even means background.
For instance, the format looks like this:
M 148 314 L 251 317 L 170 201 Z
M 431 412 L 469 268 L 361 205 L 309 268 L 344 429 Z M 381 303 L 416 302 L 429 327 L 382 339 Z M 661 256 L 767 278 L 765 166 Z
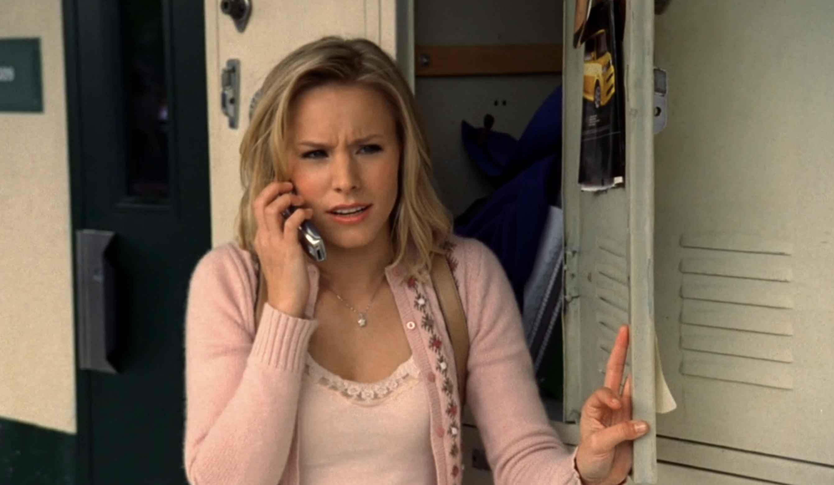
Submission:
M 416 46 L 414 73 L 431 76 L 500 76 L 562 72 L 561 44 Z

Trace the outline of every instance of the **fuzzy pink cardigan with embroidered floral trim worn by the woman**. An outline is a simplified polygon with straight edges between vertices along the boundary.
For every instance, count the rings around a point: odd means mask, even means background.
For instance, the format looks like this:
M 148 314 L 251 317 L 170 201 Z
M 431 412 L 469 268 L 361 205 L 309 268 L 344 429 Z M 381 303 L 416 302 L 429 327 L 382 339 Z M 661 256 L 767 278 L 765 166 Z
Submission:
M 496 485 L 580 485 L 574 455 L 545 415 L 521 319 L 495 255 L 453 237 L 450 262 L 470 332 L 468 405 Z M 307 316 L 318 294 L 310 264 Z M 431 285 L 385 270 L 414 361 L 425 376 L 438 485 L 461 482 L 455 359 Z M 186 317 L 185 470 L 193 485 L 299 485 L 296 432 L 309 338 L 317 321 L 269 305 L 254 331 L 249 253 L 224 245 L 194 270 Z

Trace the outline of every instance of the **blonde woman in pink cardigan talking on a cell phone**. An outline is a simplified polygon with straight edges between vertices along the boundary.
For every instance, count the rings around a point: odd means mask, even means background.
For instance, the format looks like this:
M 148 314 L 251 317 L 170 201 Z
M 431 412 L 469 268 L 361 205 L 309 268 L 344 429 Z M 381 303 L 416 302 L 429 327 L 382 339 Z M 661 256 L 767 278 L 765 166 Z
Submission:
M 459 382 L 429 280 L 438 253 L 469 323 L 467 403 L 495 483 L 624 481 L 646 432 L 619 394 L 625 327 L 571 453 L 545 416 L 498 260 L 450 234 L 415 111 L 365 40 L 310 43 L 265 79 L 240 149 L 238 241 L 200 261 L 188 298 L 193 485 L 460 483 Z M 299 245 L 304 220 L 324 261 Z

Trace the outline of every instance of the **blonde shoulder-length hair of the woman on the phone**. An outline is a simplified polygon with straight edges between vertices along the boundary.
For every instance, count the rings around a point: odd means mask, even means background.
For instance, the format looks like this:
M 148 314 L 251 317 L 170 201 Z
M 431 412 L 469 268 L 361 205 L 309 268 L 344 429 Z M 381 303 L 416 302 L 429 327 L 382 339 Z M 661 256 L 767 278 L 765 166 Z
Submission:
M 408 83 L 394 61 L 363 38 L 321 38 L 290 53 L 264 79 L 240 144 L 244 195 L 237 218 L 237 242 L 254 254 L 256 222 L 252 202 L 267 184 L 289 179 L 285 134 L 289 110 L 300 93 L 329 83 L 374 88 L 392 107 L 400 144 L 399 191 L 390 227 L 394 263 L 420 279 L 435 254 L 445 251 L 450 215 L 431 184 L 425 132 Z

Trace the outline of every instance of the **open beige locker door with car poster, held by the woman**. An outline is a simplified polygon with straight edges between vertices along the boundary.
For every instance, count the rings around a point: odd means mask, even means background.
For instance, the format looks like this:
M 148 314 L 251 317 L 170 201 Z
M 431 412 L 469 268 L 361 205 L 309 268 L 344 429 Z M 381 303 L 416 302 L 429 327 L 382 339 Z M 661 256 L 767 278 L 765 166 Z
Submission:
M 595 82 L 587 79 L 591 74 L 585 60 L 602 54 L 574 47 L 575 13 L 584 1 L 565 2 L 565 421 L 579 421 L 585 399 L 603 384 L 617 329 L 629 324 L 626 371 L 632 376 L 634 417 L 651 427 L 635 442 L 632 478 L 656 483 L 654 5 L 625 2 L 623 73 L 615 73 L 624 75 L 620 86 L 625 86 L 624 183 L 587 191 L 579 184 L 583 104 L 599 107 L 600 99 L 594 96 Z

